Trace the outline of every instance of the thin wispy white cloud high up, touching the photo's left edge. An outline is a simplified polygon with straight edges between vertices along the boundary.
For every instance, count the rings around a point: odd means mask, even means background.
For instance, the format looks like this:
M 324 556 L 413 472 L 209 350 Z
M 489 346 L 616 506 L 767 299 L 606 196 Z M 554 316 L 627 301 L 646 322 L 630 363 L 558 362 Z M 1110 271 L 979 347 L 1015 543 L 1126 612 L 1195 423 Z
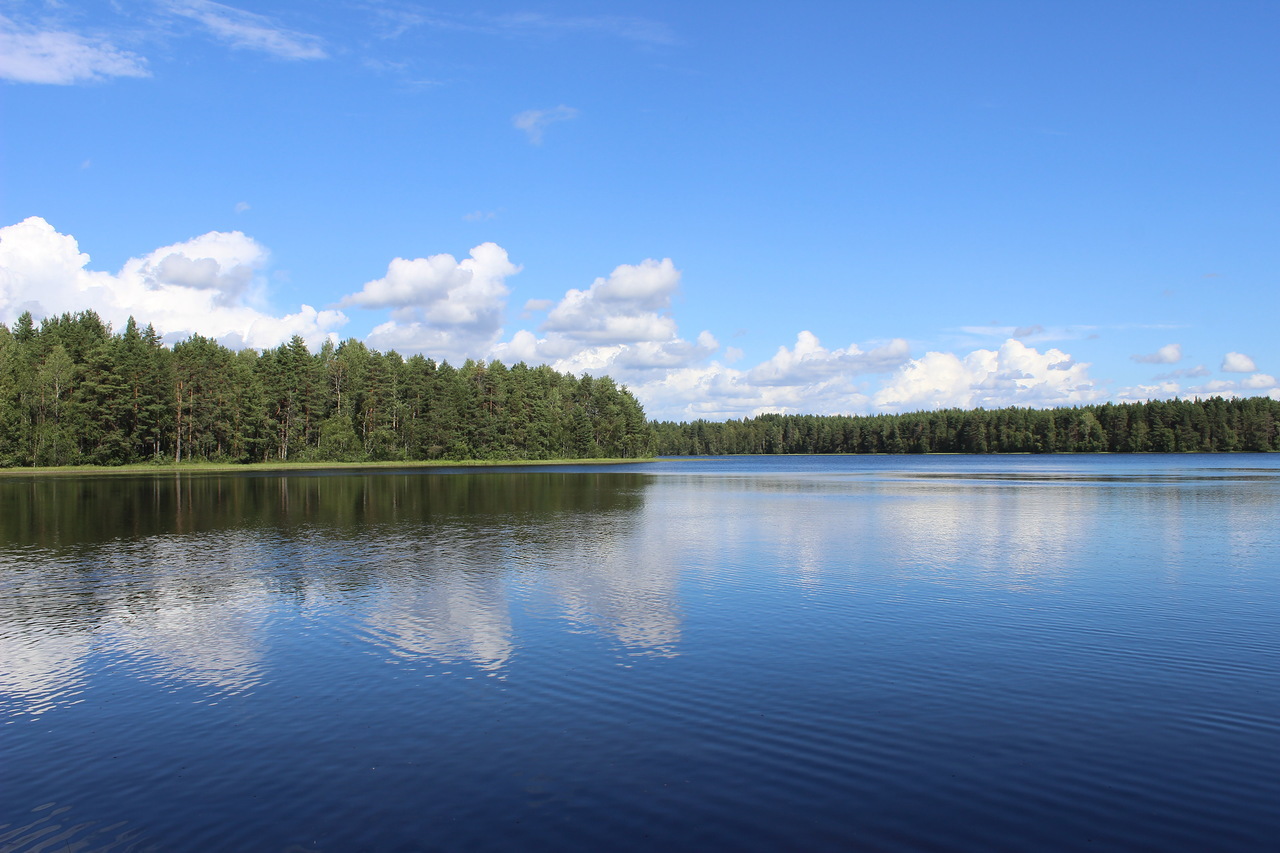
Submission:
M 105 40 L 23 27 L 0 15 L 0 79 L 68 86 L 147 76 L 143 58 Z

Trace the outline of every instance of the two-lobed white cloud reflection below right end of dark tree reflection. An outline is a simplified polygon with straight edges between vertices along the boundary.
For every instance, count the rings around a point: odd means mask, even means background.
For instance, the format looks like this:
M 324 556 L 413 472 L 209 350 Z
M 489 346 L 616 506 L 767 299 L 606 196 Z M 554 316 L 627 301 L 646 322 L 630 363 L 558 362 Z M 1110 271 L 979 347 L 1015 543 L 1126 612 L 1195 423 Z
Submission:
M 680 639 L 680 564 L 666 533 L 634 512 L 598 512 L 396 537 L 364 556 L 380 578 L 365 626 L 397 656 L 498 670 L 517 646 L 513 588 L 547 583 L 571 621 L 631 649 L 671 653 Z

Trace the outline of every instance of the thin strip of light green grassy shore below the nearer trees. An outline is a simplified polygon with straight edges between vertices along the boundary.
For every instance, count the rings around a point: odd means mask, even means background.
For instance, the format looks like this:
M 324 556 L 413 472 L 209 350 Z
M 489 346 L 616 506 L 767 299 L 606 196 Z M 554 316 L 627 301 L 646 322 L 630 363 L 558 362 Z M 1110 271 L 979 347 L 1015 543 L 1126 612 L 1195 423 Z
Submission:
M 0 476 L 83 476 L 122 474 L 269 474 L 289 471 L 346 471 L 430 467 L 538 467 L 547 465 L 631 465 L 654 457 L 632 459 L 467 459 L 384 462 L 145 462 L 141 465 L 61 465 L 58 467 L 0 467 Z

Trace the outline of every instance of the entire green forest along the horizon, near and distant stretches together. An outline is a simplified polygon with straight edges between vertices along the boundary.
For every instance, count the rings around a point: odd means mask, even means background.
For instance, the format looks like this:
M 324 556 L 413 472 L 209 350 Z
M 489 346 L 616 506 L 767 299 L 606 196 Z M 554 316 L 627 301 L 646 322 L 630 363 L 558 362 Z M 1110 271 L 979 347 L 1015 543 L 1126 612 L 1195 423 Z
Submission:
M 1280 451 L 1268 397 L 901 415 L 645 419 L 626 387 L 549 366 L 370 350 L 168 347 L 93 311 L 0 324 L 0 467 L 636 459 L 724 453 Z

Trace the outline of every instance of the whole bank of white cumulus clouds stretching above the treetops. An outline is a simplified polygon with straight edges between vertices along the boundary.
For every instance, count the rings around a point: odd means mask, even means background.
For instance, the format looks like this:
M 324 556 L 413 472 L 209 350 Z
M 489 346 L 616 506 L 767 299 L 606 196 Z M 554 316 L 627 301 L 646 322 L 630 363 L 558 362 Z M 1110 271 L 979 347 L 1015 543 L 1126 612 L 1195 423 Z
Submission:
M 392 259 L 380 278 L 321 309 L 273 310 L 269 265 L 270 254 L 253 238 L 215 231 L 132 257 L 115 273 L 95 270 L 74 237 L 32 216 L 0 228 L 0 321 L 12 324 L 23 311 L 40 319 L 92 309 L 115 328 L 133 315 L 168 341 L 198 333 L 230 347 L 266 348 L 298 334 L 316 348 L 338 339 L 348 323 L 344 311 L 371 313 L 378 319 L 366 342 L 375 348 L 454 364 L 499 359 L 608 374 L 627 384 L 652 418 L 666 420 L 1047 407 L 1192 394 L 1280 398 L 1275 377 L 1240 352 L 1224 357 L 1221 379 L 1196 366 L 1114 389 L 1093 378 L 1091 364 L 1016 334 L 998 347 L 914 355 L 905 338 L 832 347 L 801 329 L 790 346 L 742 365 L 744 352 L 722 350 L 712 330 L 681 333 L 673 298 L 684 282 L 669 257 L 620 264 L 558 298 L 522 298 L 517 305 L 526 328 L 515 330 L 504 327 L 508 280 L 521 266 L 497 243 L 480 243 L 461 259 Z M 1176 364 L 1183 352 L 1172 343 L 1132 357 Z M 1183 384 L 1188 380 L 1201 384 Z

